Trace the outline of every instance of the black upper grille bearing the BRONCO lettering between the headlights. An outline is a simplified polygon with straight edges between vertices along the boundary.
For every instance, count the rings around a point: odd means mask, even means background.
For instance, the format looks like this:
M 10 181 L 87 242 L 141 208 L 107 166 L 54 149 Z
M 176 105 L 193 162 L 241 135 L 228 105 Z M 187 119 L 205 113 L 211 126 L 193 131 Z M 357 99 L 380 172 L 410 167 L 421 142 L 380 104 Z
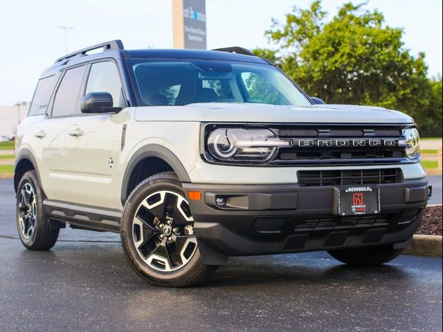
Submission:
M 292 144 L 291 147 L 279 149 L 272 163 L 283 165 L 380 163 L 387 159 L 399 162 L 406 158 L 404 147 L 399 145 L 403 129 L 404 127 L 399 126 L 362 125 L 357 127 L 325 124 L 275 128 L 274 131 L 279 138 L 290 140 Z M 371 145 L 370 140 L 378 140 L 382 144 Z M 358 143 L 359 141 L 362 143 Z M 385 144 L 386 141 L 395 143 L 388 145 Z

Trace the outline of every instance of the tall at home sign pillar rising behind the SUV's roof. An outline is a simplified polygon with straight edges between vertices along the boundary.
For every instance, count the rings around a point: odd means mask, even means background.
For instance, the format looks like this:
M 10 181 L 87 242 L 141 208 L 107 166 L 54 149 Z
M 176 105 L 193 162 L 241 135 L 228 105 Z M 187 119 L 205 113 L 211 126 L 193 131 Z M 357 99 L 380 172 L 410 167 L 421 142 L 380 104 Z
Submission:
M 206 50 L 206 0 L 172 0 L 174 48 Z

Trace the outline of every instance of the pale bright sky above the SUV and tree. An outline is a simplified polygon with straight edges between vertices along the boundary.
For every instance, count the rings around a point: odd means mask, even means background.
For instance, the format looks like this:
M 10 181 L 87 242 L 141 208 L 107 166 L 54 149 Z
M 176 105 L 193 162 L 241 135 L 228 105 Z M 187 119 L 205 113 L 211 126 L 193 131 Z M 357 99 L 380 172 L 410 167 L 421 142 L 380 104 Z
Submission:
M 332 16 L 347 1 L 323 0 Z M 363 0 L 353 1 L 361 3 Z M 269 47 L 264 30 L 311 0 L 206 0 L 208 48 Z M 429 76 L 442 73 L 441 0 L 369 0 L 386 24 L 404 29 L 414 55 L 426 53 Z M 44 68 L 68 51 L 111 39 L 125 48 L 172 48 L 172 0 L 0 0 L 0 105 L 30 100 Z

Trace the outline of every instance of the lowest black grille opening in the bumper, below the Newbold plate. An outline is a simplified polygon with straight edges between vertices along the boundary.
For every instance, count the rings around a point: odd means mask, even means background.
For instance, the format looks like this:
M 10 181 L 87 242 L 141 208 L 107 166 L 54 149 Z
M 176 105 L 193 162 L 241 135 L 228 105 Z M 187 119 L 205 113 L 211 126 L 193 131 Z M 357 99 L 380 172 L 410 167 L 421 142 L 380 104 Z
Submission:
M 294 231 L 333 230 L 334 228 L 353 228 L 356 226 L 386 226 L 389 225 L 387 214 L 372 214 L 370 216 L 325 216 L 316 218 L 300 218 Z

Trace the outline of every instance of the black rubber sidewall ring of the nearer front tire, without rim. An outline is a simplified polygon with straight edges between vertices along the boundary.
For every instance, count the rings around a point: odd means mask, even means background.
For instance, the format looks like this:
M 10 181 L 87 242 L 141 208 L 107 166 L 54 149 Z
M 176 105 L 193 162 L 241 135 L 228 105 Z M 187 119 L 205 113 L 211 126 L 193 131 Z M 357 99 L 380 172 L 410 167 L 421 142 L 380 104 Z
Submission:
M 173 271 L 159 271 L 148 266 L 141 258 L 138 254 L 138 250 L 134 246 L 134 240 L 132 237 L 132 222 L 138 206 L 147 198 L 147 196 L 161 190 L 176 192 L 186 199 L 186 195 L 181 188 L 181 183 L 172 176 L 156 178 L 152 181 L 149 181 L 149 179 L 143 181 L 138 187 L 136 187 L 132 194 L 129 195 L 123 210 L 121 239 L 127 259 L 139 275 L 155 284 L 174 284 L 177 282 L 183 282 L 183 279 L 187 279 L 189 275 L 192 275 L 195 270 L 198 270 L 203 265 L 198 246 L 194 255 L 185 266 Z

